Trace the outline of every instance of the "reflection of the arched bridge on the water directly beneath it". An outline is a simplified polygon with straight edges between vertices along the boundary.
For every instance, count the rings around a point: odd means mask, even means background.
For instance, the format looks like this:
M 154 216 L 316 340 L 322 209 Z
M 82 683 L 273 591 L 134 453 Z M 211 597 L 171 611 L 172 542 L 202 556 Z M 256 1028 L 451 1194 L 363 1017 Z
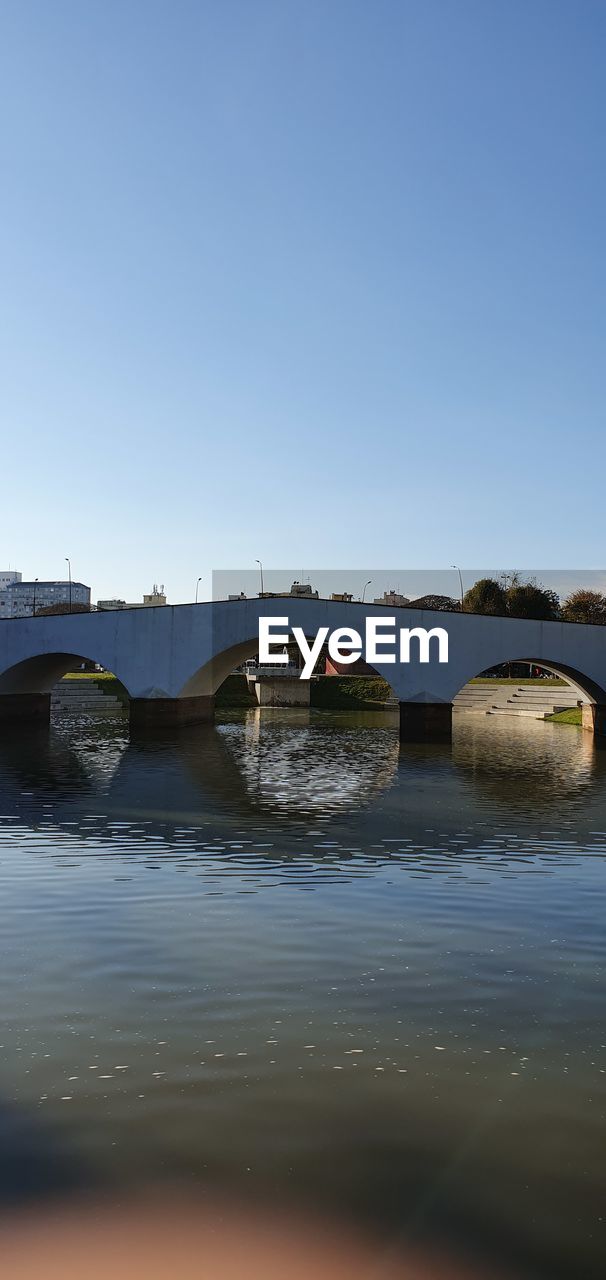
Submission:
M 347 716 L 315 719 L 310 730 L 305 713 L 284 722 L 251 710 L 169 741 L 129 741 L 102 724 L 74 739 L 20 731 L 0 740 L 1 812 L 49 836 L 76 828 L 102 856 L 173 856 L 187 831 L 188 856 L 266 847 L 290 865 L 309 859 L 311 845 L 323 867 L 333 855 L 366 867 L 410 858 L 439 844 L 441 831 L 468 833 L 477 851 L 498 814 L 516 814 L 534 835 L 574 806 L 587 829 L 592 820 L 603 829 L 603 788 L 593 783 L 606 781 L 606 755 L 589 735 L 534 722 L 489 730 L 474 718 L 459 722 L 452 749 L 401 754 L 395 717 L 391 727 L 384 713 L 363 713 L 355 724 Z

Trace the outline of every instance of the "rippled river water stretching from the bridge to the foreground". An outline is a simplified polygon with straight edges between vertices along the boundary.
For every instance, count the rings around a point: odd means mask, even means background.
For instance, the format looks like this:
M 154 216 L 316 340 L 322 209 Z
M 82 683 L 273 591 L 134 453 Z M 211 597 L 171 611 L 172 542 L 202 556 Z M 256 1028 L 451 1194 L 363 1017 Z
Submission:
M 606 753 L 459 716 L 0 745 L 0 1194 L 164 1181 L 598 1275 Z

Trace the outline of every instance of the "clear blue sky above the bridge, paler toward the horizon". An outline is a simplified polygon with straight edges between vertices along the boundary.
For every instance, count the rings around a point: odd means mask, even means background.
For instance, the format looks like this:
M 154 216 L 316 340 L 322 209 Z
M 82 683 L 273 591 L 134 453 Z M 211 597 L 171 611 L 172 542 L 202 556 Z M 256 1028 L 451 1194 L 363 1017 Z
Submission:
M 0 568 L 603 559 L 606 6 L 3 0 Z

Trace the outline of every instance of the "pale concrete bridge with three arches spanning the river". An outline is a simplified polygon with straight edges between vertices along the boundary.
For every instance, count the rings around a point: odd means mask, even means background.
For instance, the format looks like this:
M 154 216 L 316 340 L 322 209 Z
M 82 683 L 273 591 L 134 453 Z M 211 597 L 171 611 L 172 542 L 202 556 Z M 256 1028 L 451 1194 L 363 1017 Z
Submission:
M 448 662 L 434 644 L 428 663 L 413 644 L 409 663 L 375 662 L 400 703 L 405 741 L 447 739 L 452 699 L 479 672 L 504 662 L 537 662 L 586 696 L 583 724 L 606 733 L 606 627 L 469 613 L 392 609 L 292 596 L 220 600 L 115 612 L 0 621 L 0 718 L 49 717 L 50 690 L 78 659 L 97 662 L 124 685 L 135 727 L 170 727 L 213 718 L 225 677 L 259 649 L 259 617 L 288 616 L 291 628 L 361 635 L 366 617 L 400 627 L 445 627 Z

